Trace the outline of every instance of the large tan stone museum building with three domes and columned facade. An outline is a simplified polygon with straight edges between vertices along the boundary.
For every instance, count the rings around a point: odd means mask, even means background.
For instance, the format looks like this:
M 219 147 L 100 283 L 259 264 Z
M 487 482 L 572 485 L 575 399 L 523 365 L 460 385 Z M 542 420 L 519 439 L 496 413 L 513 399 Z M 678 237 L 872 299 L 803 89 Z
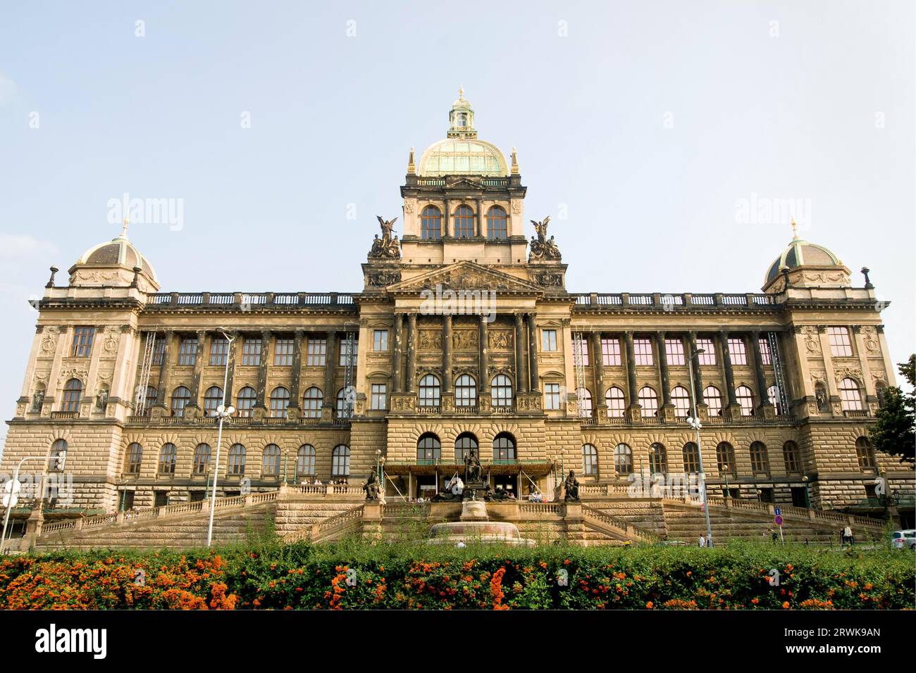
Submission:
M 384 465 L 415 498 L 475 449 L 494 487 L 550 498 L 561 470 L 698 472 L 695 395 L 711 492 L 839 509 L 912 489 L 867 439 L 895 385 L 867 276 L 795 235 L 759 292 L 569 289 L 525 195 L 462 93 L 410 151 L 359 288 L 163 292 L 125 223 L 52 270 L 0 471 L 44 456 L 72 479 L 61 511 L 114 512 L 202 500 L 217 467 L 232 495 Z

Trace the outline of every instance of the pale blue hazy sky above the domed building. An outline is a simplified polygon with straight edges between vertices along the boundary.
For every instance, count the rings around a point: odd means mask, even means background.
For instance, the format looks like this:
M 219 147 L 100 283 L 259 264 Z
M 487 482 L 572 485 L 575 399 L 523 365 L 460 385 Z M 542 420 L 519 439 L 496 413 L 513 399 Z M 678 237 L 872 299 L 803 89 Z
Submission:
M 518 147 L 571 291 L 758 291 L 791 230 L 739 205 L 791 200 L 856 286 L 871 268 L 901 361 L 914 23 L 910 0 L 4 3 L 3 418 L 27 300 L 120 231 L 110 199 L 181 200 L 180 228 L 130 231 L 163 291 L 358 290 L 459 85 L 480 137 Z

